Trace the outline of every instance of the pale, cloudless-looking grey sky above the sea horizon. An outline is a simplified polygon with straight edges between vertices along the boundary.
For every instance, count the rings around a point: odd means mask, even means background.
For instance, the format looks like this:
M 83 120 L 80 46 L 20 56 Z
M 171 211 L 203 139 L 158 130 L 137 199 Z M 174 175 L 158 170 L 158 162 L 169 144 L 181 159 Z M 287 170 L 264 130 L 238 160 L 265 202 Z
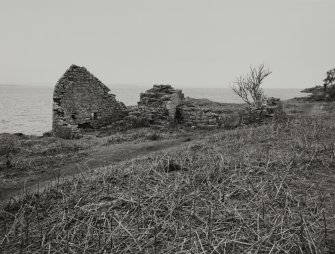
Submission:
M 54 85 L 85 66 L 105 84 L 322 84 L 335 68 L 335 0 L 0 0 L 0 84 Z

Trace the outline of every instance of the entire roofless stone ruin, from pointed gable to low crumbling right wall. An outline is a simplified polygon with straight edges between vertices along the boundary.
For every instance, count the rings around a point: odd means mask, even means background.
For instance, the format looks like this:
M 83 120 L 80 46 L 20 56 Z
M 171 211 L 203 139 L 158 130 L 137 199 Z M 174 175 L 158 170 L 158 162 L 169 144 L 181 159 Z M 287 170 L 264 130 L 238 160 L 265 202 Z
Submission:
M 90 130 L 125 130 L 145 126 L 186 126 L 231 129 L 281 114 L 279 99 L 269 98 L 260 109 L 204 108 L 184 99 L 171 85 L 154 85 L 140 94 L 136 106 L 126 107 L 84 67 L 72 65 L 59 79 L 53 96 L 52 134 L 79 137 Z

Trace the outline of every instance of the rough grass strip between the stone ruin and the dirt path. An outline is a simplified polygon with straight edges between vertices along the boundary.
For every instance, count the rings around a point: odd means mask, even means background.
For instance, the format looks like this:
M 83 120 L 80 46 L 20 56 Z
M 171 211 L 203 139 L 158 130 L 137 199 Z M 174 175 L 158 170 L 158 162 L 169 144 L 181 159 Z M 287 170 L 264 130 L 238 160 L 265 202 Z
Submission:
M 24 181 L 29 182 L 42 174 L 81 161 L 88 153 L 103 149 L 104 146 L 166 140 L 177 138 L 179 134 L 182 133 L 178 130 L 152 128 L 118 132 L 104 137 L 92 133 L 78 140 L 0 134 L 0 197 L 2 189 L 22 186 Z M 8 161 L 11 164 L 9 166 Z

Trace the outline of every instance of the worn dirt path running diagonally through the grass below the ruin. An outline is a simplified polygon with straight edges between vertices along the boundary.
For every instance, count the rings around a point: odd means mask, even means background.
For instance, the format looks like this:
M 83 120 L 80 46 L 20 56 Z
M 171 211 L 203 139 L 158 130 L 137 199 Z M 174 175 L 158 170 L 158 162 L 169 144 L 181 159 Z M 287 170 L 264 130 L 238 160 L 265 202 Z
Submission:
M 25 186 L 0 190 L 0 202 L 25 193 L 42 191 L 52 183 L 58 181 L 61 182 L 66 177 L 81 174 L 90 169 L 108 166 L 113 163 L 126 161 L 156 151 L 167 150 L 168 148 L 179 146 L 195 138 L 194 135 L 184 135 L 183 137 L 172 140 L 150 141 L 138 144 L 123 143 L 99 147 L 98 149 L 88 151 L 87 157 L 81 162 L 71 163 L 61 168 L 56 168 L 52 170 L 52 172 L 43 174 L 31 182 L 26 183 Z

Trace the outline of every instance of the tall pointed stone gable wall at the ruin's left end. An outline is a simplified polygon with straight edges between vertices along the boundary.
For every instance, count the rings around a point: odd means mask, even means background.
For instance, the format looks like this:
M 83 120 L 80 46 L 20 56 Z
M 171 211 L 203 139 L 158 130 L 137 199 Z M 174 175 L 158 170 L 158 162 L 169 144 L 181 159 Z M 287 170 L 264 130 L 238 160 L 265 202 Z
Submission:
M 57 137 L 73 138 L 81 130 L 99 129 L 126 114 L 125 105 L 84 67 L 72 65 L 55 86 L 52 131 Z

